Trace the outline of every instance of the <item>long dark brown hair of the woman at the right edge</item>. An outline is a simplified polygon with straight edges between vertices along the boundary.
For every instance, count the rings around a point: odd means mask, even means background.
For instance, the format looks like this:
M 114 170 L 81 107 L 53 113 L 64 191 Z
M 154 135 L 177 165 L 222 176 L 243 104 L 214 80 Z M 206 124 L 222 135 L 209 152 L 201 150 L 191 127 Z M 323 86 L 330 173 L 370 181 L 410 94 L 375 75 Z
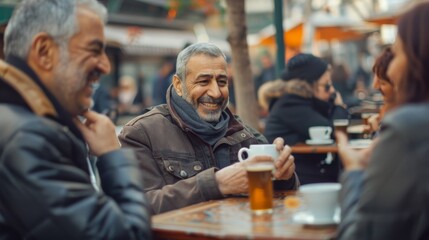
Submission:
M 398 36 L 407 57 L 407 67 L 398 83 L 399 103 L 423 102 L 429 98 L 429 2 L 418 4 L 398 21 Z

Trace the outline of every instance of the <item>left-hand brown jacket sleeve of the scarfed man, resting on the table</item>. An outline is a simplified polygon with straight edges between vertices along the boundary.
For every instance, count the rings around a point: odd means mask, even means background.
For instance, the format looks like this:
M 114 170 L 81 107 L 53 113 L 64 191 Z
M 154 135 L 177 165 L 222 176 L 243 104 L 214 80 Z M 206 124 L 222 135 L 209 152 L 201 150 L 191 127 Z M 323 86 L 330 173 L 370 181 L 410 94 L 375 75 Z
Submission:
M 151 125 L 151 129 L 147 129 L 141 123 L 126 125 L 119 135 L 119 140 L 123 147 L 131 147 L 135 149 L 137 159 L 140 161 L 140 167 L 143 171 L 145 183 L 145 195 L 148 199 L 152 213 L 158 214 L 169 210 L 185 207 L 194 203 L 208 201 L 212 199 L 222 198 L 223 195 L 219 190 L 215 179 L 215 168 L 206 169 L 193 177 L 182 179 L 174 183 L 165 180 L 165 171 L 160 166 L 152 151 L 151 138 L 147 132 L 156 131 L 156 127 Z M 162 141 L 169 141 L 169 135 L 162 134 Z

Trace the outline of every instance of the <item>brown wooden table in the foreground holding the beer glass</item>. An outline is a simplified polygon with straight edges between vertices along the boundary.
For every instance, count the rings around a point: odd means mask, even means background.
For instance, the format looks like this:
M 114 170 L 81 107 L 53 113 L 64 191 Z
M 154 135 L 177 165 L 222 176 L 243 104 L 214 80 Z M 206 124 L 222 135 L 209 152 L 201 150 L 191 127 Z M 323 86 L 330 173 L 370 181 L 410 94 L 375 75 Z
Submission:
M 290 192 L 288 194 L 294 194 Z M 307 226 L 292 221 L 283 196 L 273 214 L 254 216 L 247 197 L 209 201 L 152 217 L 155 239 L 334 239 L 336 226 Z

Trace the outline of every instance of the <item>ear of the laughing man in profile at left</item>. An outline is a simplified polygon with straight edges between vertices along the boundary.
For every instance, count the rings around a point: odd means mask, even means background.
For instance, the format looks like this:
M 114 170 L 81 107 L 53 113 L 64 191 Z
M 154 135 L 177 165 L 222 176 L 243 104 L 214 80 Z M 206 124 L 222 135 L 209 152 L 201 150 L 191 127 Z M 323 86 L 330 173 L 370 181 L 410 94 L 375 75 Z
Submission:
M 58 59 L 59 47 L 47 33 L 38 33 L 33 38 L 28 60 L 43 70 L 52 70 Z

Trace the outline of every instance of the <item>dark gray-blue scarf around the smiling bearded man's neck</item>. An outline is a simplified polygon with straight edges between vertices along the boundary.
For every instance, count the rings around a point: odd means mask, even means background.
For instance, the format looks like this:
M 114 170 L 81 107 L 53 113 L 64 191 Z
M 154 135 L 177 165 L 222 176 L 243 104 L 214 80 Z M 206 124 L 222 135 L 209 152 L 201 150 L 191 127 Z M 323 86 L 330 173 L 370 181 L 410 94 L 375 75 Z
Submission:
M 203 141 L 213 146 L 228 130 L 229 115 L 222 111 L 219 122 L 209 123 L 200 118 L 198 113 L 185 99 L 171 87 L 171 104 L 179 117 Z

